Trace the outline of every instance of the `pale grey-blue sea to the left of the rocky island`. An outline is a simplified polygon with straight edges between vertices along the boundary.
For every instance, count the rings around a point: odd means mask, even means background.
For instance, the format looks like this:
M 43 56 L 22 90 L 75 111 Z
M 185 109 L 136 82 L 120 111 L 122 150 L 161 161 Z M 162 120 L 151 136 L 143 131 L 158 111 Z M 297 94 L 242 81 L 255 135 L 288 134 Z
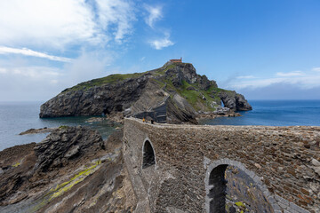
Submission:
M 61 125 L 90 126 L 100 131 L 102 138 L 115 130 L 106 122 L 88 122 L 90 116 L 39 118 L 40 106 L 44 102 L 0 102 L 0 151 L 10 146 L 40 142 L 48 133 L 19 135 L 20 132 L 31 128 L 60 127 Z

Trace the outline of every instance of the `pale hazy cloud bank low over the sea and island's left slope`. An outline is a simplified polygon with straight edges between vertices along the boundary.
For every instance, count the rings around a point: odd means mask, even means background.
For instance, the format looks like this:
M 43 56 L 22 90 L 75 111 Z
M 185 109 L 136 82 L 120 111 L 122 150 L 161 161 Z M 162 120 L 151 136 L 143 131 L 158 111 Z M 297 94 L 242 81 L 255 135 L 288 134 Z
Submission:
M 0 60 L 1 100 L 46 100 L 77 83 L 109 75 L 115 52 L 82 52 L 64 67 L 34 66 L 29 60 Z

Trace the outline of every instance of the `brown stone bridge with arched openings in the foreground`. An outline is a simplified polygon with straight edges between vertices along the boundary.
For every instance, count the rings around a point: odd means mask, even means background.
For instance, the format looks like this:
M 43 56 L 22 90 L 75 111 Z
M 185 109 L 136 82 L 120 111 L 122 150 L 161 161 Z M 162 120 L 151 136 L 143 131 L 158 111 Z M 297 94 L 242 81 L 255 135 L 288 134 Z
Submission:
M 252 179 L 268 212 L 320 212 L 319 142 L 319 127 L 124 121 L 136 212 L 226 212 L 228 166 Z

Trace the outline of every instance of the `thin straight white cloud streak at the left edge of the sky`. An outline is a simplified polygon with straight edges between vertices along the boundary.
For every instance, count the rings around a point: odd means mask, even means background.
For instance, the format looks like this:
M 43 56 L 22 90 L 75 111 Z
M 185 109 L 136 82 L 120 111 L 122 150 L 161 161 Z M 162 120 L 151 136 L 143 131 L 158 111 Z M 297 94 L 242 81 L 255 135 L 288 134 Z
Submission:
M 64 58 L 64 57 L 48 55 L 44 52 L 32 51 L 27 48 L 17 49 L 17 48 L 0 46 L 0 54 L 8 54 L 8 53 L 22 54 L 22 55 L 26 55 L 26 56 L 34 56 L 34 57 L 51 59 L 51 60 L 56 60 L 56 61 L 61 61 L 61 62 L 70 62 L 72 60 L 72 59 L 68 59 L 68 58 Z

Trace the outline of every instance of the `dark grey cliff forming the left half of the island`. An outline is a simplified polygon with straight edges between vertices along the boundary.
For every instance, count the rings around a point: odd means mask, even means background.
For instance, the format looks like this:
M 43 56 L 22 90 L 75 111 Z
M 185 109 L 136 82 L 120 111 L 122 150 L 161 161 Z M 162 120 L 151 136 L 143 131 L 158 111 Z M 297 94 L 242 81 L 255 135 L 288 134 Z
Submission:
M 94 84 L 94 80 L 93 84 Z M 148 74 L 99 86 L 84 86 L 62 91 L 40 107 L 40 117 L 100 115 L 122 112 L 139 99 Z M 81 83 L 80 83 L 81 84 Z M 88 83 L 91 85 L 91 83 Z

